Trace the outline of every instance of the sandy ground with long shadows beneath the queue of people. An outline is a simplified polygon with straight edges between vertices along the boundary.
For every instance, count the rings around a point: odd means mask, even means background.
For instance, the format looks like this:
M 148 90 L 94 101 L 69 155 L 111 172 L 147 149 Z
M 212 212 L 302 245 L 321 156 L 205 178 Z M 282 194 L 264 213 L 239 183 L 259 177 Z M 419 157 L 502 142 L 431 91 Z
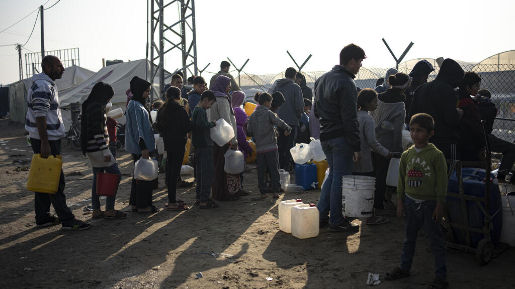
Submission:
M 250 195 L 219 202 L 214 210 L 193 206 L 182 212 L 128 212 L 124 220 L 93 220 L 84 212 L 91 203 L 91 169 L 87 158 L 65 142 L 68 206 L 94 227 L 80 232 L 60 226 L 40 229 L 33 194 L 26 189 L 32 152 L 25 138 L 22 125 L 0 120 L 0 288 L 365 288 L 369 272 L 384 279 L 400 260 L 403 220 L 397 217 L 379 226 L 355 220 L 361 225 L 357 233 L 322 229 L 307 240 L 280 231 L 279 202 L 302 198 L 316 203 L 320 190 L 261 201 L 255 169 L 244 180 Z M 117 154 L 123 176 L 116 208 L 127 211 L 133 165 L 123 149 Z M 194 190 L 179 189 L 178 197 L 191 205 Z M 153 200 L 159 208 L 167 201 L 163 174 Z M 424 234 L 420 237 L 411 277 L 383 280 L 379 287 L 425 288 L 433 279 L 433 256 Z M 212 251 L 214 256 L 198 254 Z M 451 287 L 512 288 L 514 257 L 509 248 L 479 266 L 473 254 L 448 249 Z M 196 279 L 200 272 L 203 277 Z

